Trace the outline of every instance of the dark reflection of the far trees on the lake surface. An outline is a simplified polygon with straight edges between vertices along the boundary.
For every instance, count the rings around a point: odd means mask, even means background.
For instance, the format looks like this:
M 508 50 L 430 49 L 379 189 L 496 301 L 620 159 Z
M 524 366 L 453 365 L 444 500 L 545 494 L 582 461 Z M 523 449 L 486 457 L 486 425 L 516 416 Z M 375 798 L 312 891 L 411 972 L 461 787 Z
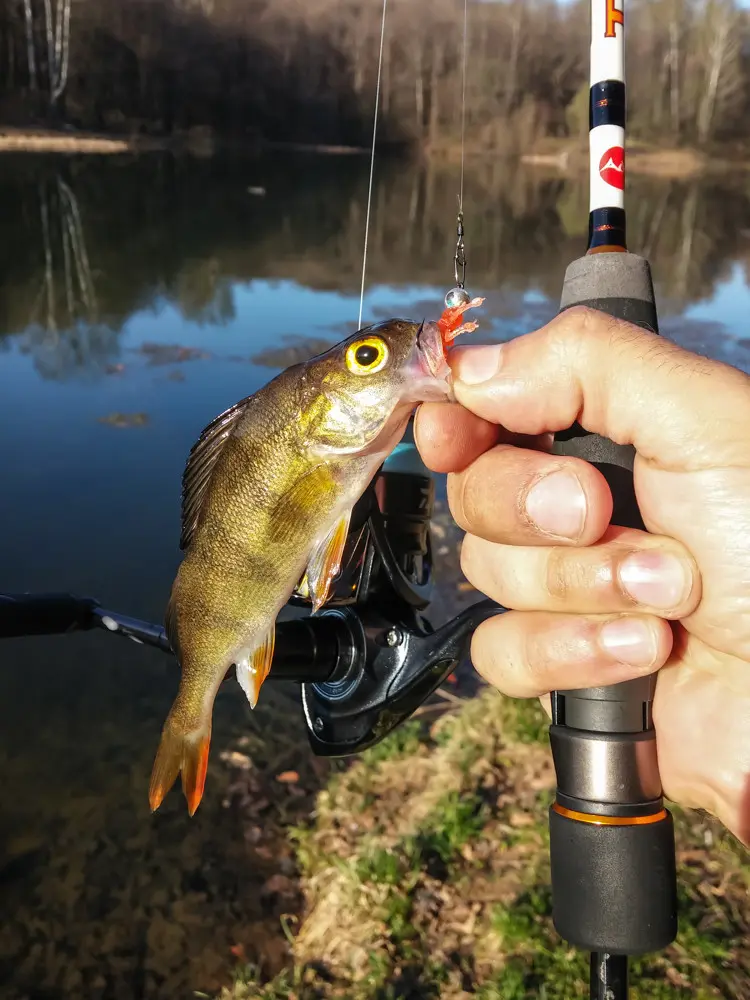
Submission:
M 25 332 L 40 374 L 64 379 L 86 368 L 103 373 L 117 335 L 144 310 L 169 305 L 217 331 L 253 322 L 252 303 L 240 315 L 236 294 L 253 281 L 354 296 L 365 183 L 357 158 L 6 161 L 0 337 Z M 470 172 L 466 191 L 470 282 L 494 293 L 495 332 L 508 335 L 515 331 L 498 328 L 517 320 L 529 293 L 552 303 L 559 296 L 585 238 L 585 179 L 492 163 Z M 747 274 L 750 197 L 742 186 L 635 176 L 629 199 L 631 246 L 652 261 L 665 320 L 711 299 L 733 269 Z M 380 164 L 373 287 L 421 286 L 432 296 L 449 282 L 454 203 L 453 169 Z M 277 312 L 283 305 L 279 298 Z M 289 332 L 319 319 L 300 316 Z

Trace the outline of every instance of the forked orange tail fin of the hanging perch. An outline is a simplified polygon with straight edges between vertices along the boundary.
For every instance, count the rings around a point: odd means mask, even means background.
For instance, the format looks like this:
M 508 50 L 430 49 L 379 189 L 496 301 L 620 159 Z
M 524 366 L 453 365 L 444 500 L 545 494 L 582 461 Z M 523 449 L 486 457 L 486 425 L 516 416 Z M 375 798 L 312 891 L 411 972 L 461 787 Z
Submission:
M 156 752 L 148 801 L 151 812 L 162 804 L 164 796 L 182 775 L 182 791 L 187 799 L 191 816 L 203 798 L 208 769 L 208 748 L 211 745 L 211 727 L 185 732 L 167 719 L 161 734 L 161 743 Z

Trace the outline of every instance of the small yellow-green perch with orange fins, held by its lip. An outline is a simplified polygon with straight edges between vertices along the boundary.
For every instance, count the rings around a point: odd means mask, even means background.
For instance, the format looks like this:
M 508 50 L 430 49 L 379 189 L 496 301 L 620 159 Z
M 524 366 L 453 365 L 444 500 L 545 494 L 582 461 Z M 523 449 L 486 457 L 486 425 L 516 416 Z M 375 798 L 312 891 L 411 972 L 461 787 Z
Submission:
M 181 668 L 149 801 L 178 774 L 192 816 L 203 796 L 216 693 L 234 667 L 254 708 L 276 617 L 304 576 L 313 613 L 340 571 L 349 517 L 421 402 L 451 398 L 445 348 L 473 330 L 389 320 L 287 368 L 216 417 L 183 474 L 180 564 L 165 627 Z

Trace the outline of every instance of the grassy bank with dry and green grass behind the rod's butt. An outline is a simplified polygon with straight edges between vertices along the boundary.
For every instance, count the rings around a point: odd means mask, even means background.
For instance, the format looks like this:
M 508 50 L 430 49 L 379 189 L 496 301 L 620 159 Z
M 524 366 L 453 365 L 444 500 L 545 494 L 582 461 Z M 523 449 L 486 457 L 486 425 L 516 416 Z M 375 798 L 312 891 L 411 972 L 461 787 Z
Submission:
M 242 967 L 221 1000 L 587 995 L 551 923 L 554 774 L 536 703 L 485 690 L 334 776 L 294 831 L 306 906 L 288 969 Z M 750 856 L 676 811 L 680 934 L 633 964 L 641 1000 L 750 997 Z

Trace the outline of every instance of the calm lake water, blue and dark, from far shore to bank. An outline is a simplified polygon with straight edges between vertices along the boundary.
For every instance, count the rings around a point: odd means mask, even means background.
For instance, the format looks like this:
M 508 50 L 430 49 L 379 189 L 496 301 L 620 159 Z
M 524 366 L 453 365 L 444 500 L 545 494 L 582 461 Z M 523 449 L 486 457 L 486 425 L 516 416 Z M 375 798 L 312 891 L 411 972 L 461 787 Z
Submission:
M 288 154 L 0 162 L 2 590 L 161 620 L 201 429 L 355 328 L 367 176 Z M 382 161 L 373 206 L 364 321 L 436 315 L 456 171 Z M 628 207 L 662 332 L 750 369 L 750 188 L 636 177 Z M 477 167 L 465 216 L 468 285 L 487 297 L 472 339 L 544 323 L 584 249 L 584 181 Z M 176 681 L 104 635 L 0 646 L 3 997 L 172 1000 L 216 990 L 238 958 L 283 961 L 280 917 L 299 906 L 285 830 L 325 777 L 295 689 L 266 687 L 255 713 L 221 693 L 189 821 L 177 792 L 153 817 L 146 801 Z M 227 752 L 252 758 L 244 784 Z M 275 782 L 286 769 L 297 785 Z

